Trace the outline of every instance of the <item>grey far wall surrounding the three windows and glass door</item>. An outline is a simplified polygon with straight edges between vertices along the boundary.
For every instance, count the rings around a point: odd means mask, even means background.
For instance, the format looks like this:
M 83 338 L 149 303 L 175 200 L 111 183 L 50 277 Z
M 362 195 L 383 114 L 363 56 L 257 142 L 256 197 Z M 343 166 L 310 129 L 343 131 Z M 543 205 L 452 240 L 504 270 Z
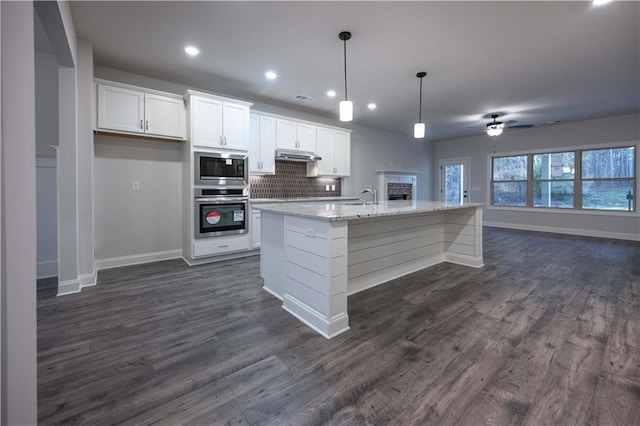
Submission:
M 470 157 L 470 200 L 487 203 L 484 221 L 504 227 L 640 240 L 640 215 L 598 214 L 565 210 L 518 210 L 489 206 L 489 154 L 540 149 L 635 143 L 640 140 L 640 114 L 506 131 L 497 138 L 485 134 L 434 144 L 434 164 L 441 159 Z M 640 157 L 640 146 L 636 149 Z M 434 191 L 438 185 L 434 172 Z M 475 188 L 474 188 L 475 187 Z M 475 189 L 475 190 L 474 190 Z M 437 192 L 434 192 L 437 193 Z

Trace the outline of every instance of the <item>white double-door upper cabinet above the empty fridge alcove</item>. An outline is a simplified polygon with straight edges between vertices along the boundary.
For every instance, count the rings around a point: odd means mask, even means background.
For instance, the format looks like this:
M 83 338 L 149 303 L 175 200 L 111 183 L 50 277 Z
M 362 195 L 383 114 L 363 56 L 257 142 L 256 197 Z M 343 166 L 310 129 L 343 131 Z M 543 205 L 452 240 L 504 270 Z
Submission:
M 97 129 L 185 138 L 182 97 L 135 86 L 98 83 Z

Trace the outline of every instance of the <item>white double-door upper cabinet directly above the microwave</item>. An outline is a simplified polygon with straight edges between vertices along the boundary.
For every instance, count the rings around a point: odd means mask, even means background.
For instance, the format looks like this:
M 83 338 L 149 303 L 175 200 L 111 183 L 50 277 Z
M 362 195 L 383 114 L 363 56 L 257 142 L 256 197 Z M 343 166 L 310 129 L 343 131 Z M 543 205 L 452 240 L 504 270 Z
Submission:
M 250 103 L 187 91 L 189 139 L 194 146 L 249 149 Z

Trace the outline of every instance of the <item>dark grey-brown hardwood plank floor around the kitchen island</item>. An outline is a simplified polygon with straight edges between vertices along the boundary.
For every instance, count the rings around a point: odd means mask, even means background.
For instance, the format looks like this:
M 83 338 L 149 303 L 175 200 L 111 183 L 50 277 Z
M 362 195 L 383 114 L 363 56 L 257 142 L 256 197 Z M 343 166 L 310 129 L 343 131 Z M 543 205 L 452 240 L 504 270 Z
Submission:
M 258 257 L 38 290 L 42 424 L 640 424 L 640 244 L 485 228 L 485 266 L 349 297 L 326 340 Z

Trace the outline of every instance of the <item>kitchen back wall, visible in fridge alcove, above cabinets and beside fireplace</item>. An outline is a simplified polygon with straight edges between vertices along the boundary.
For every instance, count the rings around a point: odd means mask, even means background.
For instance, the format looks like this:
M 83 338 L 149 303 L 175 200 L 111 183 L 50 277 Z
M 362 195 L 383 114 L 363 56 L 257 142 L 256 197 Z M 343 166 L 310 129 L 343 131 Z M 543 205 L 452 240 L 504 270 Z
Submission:
M 121 70 L 94 67 L 96 78 L 184 94 L 188 88 L 207 91 Z M 215 92 L 214 90 L 208 90 Z M 222 94 L 233 98 L 233 94 Z M 250 99 L 242 99 L 250 101 Z M 377 170 L 419 171 L 418 194 L 430 199 L 433 188 L 432 147 L 406 136 L 376 129 L 345 125 L 336 117 L 256 103 L 252 109 L 349 128 L 351 177 L 343 179 L 343 195 L 377 185 Z M 180 144 L 131 138 L 96 136 L 95 238 L 99 267 L 134 262 L 136 259 L 170 257 L 181 248 Z M 141 190 L 131 191 L 140 180 Z M 147 213 L 150 212 L 150 213 Z M 156 255 L 153 255 L 156 253 Z M 164 254 L 164 255 L 163 255 Z M 180 253 L 175 254 L 179 256 Z M 174 257 L 175 257 L 174 256 Z M 125 257 L 125 259 L 118 259 Z M 114 259 L 115 258 L 115 259 Z

